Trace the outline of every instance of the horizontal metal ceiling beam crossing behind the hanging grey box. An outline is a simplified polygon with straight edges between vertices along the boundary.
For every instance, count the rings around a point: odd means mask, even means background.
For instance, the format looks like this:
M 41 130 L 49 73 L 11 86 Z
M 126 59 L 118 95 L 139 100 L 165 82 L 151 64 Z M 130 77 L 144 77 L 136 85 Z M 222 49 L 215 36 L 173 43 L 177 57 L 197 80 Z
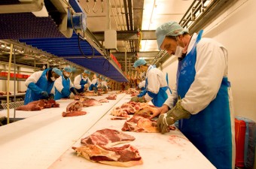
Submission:
M 105 41 L 104 32 L 92 32 L 98 41 Z M 138 40 L 137 31 L 117 31 L 117 41 Z M 156 40 L 155 31 L 142 31 L 142 40 Z

